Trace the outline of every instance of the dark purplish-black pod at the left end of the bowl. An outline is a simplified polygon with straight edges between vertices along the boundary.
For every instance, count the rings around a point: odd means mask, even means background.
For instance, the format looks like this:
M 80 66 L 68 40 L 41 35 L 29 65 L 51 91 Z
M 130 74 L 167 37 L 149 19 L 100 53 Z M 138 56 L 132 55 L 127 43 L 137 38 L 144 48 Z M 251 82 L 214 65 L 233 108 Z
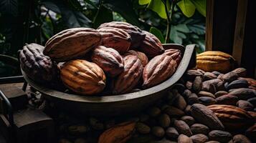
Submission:
M 36 82 L 52 82 L 57 77 L 57 65 L 42 53 L 44 46 L 27 44 L 19 50 L 19 61 L 23 71 Z

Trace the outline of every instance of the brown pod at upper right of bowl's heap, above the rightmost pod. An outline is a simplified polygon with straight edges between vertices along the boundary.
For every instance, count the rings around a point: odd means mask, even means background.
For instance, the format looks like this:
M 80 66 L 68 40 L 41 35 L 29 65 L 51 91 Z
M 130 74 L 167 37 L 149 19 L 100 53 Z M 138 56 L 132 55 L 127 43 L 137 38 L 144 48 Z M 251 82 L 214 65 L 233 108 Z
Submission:
M 138 50 L 145 53 L 149 58 L 163 54 L 164 49 L 161 41 L 148 31 L 143 31 L 143 33 L 146 34 L 146 37 Z

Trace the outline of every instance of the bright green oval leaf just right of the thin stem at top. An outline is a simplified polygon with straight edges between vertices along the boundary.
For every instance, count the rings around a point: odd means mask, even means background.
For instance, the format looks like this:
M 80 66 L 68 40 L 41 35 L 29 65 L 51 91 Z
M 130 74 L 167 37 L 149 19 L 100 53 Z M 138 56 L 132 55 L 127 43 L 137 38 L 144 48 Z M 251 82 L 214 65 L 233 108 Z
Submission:
M 181 9 L 182 13 L 187 17 L 193 16 L 196 11 L 196 6 L 194 6 L 190 0 L 181 0 L 177 5 Z

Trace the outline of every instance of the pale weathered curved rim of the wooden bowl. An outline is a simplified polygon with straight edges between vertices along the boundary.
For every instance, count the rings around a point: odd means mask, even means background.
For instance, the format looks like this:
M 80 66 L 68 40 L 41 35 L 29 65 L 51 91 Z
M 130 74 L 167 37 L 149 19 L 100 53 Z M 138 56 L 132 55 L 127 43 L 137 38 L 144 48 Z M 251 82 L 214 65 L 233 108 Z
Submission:
M 132 99 L 138 99 L 145 96 L 149 96 L 152 94 L 156 94 L 157 92 L 161 92 L 163 89 L 168 89 L 173 84 L 175 84 L 184 74 L 186 71 L 186 68 L 189 66 L 189 61 L 191 59 L 192 53 L 194 52 L 194 44 L 189 44 L 186 46 L 182 46 L 181 44 L 163 44 L 164 47 L 172 46 L 173 49 L 180 49 L 183 53 L 181 62 L 179 66 L 177 67 L 174 74 L 169 78 L 166 79 L 166 81 L 162 82 L 161 84 L 158 84 L 154 87 L 143 89 L 138 92 L 132 92 L 128 94 L 118 94 L 118 95 L 111 95 L 111 96 L 86 96 L 86 95 L 79 95 L 79 94 L 68 94 L 65 92 L 60 92 L 54 89 L 49 89 L 48 87 L 45 87 L 44 85 L 37 84 L 32 79 L 27 77 L 27 74 L 24 73 L 22 70 L 22 74 L 24 76 L 24 79 L 27 81 L 27 83 L 33 87 L 34 89 L 37 89 L 37 91 L 44 94 L 44 96 L 49 98 L 56 98 L 60 100 L 67 100 L 69 102 L 87 102 L 87 103 L 108 103 L 108 102 L 123 102 L 128 101 Z M 184 49 L 184 50 L 182 50 Z

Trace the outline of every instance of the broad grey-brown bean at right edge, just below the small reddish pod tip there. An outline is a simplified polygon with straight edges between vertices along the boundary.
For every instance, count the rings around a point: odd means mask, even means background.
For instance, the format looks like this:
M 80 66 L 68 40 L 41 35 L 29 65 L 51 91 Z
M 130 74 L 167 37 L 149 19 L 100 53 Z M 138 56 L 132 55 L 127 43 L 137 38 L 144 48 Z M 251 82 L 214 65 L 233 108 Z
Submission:
M 234 89 L 232 92 L 229 92 L 229 94 L 234 95 L 234 96 L 238 97 L 239 99 L 247 100 L 252 97 L 256 97 L 256 90 L 240 88 L 240 89 Z

